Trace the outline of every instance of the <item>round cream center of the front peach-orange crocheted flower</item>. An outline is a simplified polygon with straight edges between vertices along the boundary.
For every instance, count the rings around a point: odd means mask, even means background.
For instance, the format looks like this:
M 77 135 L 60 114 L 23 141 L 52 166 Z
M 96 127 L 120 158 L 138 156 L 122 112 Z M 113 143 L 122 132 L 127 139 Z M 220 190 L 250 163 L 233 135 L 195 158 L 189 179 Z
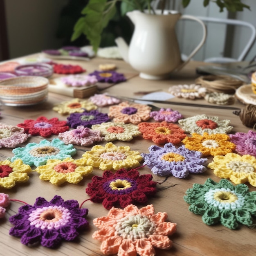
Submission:
M 119 236 L 132 241 L 149 237 L 154 233 L 155 228 L 154 222 L 140 214 L 122 218 L 115 227 Z

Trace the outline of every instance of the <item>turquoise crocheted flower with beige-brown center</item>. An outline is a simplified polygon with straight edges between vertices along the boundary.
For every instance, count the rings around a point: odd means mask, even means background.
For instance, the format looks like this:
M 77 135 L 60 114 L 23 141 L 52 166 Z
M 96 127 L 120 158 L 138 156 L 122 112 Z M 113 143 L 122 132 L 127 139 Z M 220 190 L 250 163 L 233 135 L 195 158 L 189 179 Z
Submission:
M 64 141 L 58 138 L 52 141 L 43 139 L 39 144 L 33 142 L 27 144 L 23 148 L 14 148 L 12 150 L 14 156 L 11 161 L 21 159 L 24 164 L 29 166 L 40 166 L 46 164 L 48 159 L 63 160 L 76 154 L 76 149 L 72 144 L 66 145 Z

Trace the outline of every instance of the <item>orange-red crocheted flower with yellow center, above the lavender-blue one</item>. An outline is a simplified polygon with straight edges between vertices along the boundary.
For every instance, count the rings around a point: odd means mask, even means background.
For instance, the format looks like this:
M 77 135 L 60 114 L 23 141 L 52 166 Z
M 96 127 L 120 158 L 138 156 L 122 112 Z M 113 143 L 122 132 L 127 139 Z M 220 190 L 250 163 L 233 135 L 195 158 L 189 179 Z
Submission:
M 144 139 L 151 139 L 157 144 L 165 144 L 171 142 L 179 144 L 186 137 L 184 130 L 177 124 L 169 124 L 166 121 L 161 123 L 140 123 L 138 124 L 139 131 Z

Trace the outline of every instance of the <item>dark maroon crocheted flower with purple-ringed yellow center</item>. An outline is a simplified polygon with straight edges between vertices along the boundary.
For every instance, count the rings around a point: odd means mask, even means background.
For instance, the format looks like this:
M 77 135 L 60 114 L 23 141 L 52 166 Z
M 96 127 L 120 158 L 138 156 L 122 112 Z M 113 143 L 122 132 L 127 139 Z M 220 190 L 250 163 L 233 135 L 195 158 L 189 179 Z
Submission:
M 136 169 L 127 171 L 122 168 L 116 173 L 104 171 L 103 177 L 93 176 L 85 189 L 94 203 L 102 202 L 106 209 L 120 204 L 122 208 L 138 202 L 144 204 L 149 195 L 156 193 L 156 182 L 151 174 L 139 175 Z

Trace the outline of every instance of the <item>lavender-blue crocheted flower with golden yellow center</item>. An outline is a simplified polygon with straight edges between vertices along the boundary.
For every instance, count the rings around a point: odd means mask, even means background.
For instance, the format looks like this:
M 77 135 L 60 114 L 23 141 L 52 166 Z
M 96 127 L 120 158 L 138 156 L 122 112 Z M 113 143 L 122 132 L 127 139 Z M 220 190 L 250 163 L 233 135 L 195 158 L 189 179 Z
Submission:
M 173 175 L 176 178 L 185 178 L 189 173 L 203 173 L 207 158 L 201 158 L 202 153 L 189 150 L 185 146 L 176 148 L 167 143 L 164 147 L 150 146 L 149 154 L 142 153 L 146 164 L 155 175 Z

